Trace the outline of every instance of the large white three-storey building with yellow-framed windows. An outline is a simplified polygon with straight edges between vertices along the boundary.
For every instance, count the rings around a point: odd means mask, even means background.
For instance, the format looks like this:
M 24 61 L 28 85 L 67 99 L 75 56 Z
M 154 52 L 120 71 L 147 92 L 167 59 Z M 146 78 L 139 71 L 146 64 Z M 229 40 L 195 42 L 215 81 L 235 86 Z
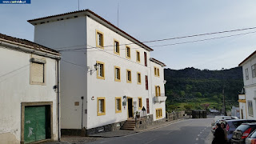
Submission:
M 62 52 L 63 133 L 118 129 L 137 111 L 152 122 L 165 118 L 165 65 L 149 46 L 90 10 L 28 22 L 34 42 Z

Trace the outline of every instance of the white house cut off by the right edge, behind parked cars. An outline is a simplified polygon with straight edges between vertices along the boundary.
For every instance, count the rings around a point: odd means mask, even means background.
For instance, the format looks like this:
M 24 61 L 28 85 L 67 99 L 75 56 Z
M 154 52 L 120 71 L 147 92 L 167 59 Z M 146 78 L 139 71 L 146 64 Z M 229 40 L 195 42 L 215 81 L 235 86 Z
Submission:
M 247 119 L 256 119 L 256 51 L 242 61 L 239 66 L 242 66 L 245 90 L 245 94 L 239 96 L 238 100 L 240 111 L 243 114 L 246 112 Z M 242 104 L 243 102 L 245 104 Z M 241 110 L 242 107 L 244 108 Z

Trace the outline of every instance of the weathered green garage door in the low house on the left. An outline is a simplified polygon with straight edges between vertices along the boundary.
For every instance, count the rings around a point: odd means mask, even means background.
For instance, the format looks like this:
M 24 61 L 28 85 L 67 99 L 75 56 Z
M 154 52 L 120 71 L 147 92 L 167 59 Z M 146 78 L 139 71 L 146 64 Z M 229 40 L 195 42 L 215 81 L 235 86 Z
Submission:
M 25 143 L 50 137 L 50 106 L 26 106 L 24 123 Z

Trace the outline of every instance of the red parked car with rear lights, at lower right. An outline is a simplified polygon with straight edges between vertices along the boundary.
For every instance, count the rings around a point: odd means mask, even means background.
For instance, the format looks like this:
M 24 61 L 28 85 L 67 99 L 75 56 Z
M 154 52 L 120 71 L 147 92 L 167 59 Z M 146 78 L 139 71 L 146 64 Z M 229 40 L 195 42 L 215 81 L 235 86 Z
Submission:
M 243 144 L 246 142 L 246 138 L 256 129 L 256 122 L 254 123 L 242 123 L 233 132 L 231 143 Z

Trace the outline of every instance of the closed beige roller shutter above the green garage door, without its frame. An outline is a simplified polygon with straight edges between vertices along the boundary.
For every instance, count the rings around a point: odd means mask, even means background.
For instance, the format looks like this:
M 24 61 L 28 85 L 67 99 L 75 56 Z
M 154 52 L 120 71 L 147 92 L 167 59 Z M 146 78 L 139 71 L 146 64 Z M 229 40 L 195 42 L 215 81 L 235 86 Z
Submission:
M 32 82 L 44 82 L 44 64 L 32 62 Z

